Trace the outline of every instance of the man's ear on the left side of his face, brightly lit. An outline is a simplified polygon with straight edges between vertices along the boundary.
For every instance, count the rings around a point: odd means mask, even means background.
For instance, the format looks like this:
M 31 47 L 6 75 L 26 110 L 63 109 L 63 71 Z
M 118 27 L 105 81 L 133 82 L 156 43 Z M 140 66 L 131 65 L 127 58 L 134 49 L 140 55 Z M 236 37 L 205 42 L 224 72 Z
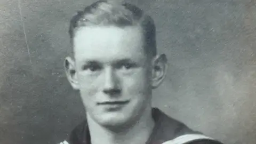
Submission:
M 65 58 L 64 66 L 69 83 L 74 90 L 79 90 L 74 60 L 70 57 Z

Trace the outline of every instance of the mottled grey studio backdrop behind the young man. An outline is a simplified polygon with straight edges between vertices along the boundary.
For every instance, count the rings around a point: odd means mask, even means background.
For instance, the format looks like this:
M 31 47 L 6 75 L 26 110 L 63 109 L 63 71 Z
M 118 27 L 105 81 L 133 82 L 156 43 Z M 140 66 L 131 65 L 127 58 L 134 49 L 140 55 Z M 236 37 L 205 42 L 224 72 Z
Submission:
M 63 73 L 89 0 L 0 1 L 0 143 L 57 143 L 84 118 Z M 156 22 L 169 72 L 154 106 L 225 143 L 256 142 L 256 2 L 131 0 Z

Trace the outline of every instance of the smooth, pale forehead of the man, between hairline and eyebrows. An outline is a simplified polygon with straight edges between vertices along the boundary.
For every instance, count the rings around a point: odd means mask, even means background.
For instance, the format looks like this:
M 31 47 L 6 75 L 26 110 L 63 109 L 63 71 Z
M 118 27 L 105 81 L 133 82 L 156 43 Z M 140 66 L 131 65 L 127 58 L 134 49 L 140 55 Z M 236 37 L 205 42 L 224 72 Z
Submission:
M 145 55 L 141 28 L 81 27 L 74 37 L 74 54 L 76 60 L 140 59 Z

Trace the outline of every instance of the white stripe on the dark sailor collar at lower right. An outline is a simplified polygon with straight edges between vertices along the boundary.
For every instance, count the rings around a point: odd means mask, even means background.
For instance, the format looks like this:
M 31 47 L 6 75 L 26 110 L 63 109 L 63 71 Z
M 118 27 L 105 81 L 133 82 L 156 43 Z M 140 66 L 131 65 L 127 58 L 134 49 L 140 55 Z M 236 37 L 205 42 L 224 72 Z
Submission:
M 207 137 L 203 134 L 184 134 L 173 140 L 165 141 L 162 144 L 183 144 L 183 143 L 187 143 L 187 142 L 191 142 L 199 139 L 214 140 L 213 138 Z

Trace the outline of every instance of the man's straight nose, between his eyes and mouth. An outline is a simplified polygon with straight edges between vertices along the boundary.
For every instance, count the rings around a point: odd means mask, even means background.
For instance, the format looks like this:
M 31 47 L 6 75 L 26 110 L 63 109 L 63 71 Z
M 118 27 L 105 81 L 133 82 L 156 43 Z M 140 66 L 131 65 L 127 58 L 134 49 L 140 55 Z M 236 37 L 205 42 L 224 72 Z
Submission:
M 108 95 L 116 95 L 121 92 L 118 77 L 112 68 L 106 69 L 103 92 Z

